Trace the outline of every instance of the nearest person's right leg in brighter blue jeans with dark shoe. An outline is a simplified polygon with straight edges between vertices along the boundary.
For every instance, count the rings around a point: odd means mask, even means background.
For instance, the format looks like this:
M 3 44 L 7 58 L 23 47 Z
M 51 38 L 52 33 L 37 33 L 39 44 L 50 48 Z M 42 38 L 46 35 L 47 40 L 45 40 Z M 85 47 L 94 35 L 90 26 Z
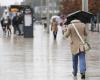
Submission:
M 81 78 L 85 79 L 85 72 L 86 72 L 85 52 L 80 52 L 80 54 L 79 54 L 79 62 L 80 62 Z

